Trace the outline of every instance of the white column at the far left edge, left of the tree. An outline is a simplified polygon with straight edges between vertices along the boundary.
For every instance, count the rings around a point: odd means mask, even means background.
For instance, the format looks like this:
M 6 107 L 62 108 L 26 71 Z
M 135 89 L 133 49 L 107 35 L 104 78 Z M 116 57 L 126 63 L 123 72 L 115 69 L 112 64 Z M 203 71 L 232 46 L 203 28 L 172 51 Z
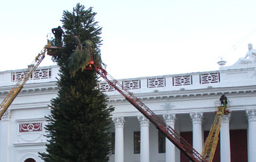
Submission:
M 1 161 L 9 161 L 9 125 L 11 111 L 7 110 L 3 114 L 0 122 L 0 157 Z

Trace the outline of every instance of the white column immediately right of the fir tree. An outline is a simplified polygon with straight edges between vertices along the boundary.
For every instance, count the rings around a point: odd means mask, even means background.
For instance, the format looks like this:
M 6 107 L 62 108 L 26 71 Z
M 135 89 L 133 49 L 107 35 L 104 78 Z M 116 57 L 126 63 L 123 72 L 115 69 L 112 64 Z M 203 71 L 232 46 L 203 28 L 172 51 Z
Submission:
M 124 117 L 113 117 L 115 128 L 114 161 L 124 162 Z

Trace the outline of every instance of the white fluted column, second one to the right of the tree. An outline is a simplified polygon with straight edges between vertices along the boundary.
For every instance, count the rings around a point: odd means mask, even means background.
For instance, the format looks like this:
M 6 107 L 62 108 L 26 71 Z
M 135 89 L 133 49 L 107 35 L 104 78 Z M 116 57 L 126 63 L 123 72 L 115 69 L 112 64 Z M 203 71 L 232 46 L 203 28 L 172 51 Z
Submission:
M 140 162 L 150 162 L 150 122 L 145 116 L 138 116 L 140 122 Z

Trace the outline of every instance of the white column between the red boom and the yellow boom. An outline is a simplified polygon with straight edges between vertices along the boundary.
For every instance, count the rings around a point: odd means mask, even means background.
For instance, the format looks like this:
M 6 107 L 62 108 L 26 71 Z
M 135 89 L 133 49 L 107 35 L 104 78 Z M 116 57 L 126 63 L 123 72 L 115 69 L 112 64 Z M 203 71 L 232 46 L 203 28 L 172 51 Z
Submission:
M 202 112 L 192 112 L 190 113 L 190 118 L 193 123 L 193 148 L 201 153 L 203 150 L 203 132 L 201 122 L 203 120 Z

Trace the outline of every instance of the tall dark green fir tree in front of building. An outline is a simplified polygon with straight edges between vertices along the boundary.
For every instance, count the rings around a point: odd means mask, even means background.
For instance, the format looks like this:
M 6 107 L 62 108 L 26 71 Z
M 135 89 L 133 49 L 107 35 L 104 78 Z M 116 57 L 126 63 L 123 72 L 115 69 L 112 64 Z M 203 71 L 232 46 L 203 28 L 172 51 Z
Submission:
M 102 64 L 99 49 L 102 28 L 94 20 L 95 15 L 92 7 L 85 9 L 79 3 L 72 12 L 63 12 L 63 49 L 53 58 L 60 67 L 59 93 L 51 101 L 51 115 L 47 116 L 45 129 L 49 143 L 46 152 L 40 153 L 45 161 L 108 161 L 113 108 L 107 106 L 106 96 L 96 88 L 96 71 L 84 70 L 88 51 L 75 55 L 73 37 L 77 34 L 81 42 L 86 38 L 92 40 L 93 56 Z

